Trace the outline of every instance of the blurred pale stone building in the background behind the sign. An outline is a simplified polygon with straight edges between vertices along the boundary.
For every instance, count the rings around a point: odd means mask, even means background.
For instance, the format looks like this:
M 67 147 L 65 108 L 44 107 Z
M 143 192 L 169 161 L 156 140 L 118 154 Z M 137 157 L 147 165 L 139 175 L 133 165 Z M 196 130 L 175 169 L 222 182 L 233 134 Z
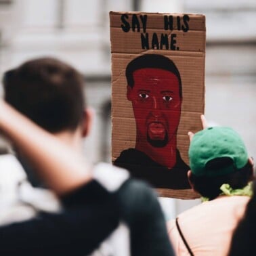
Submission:
M 211 123 L 234 127 L 256 157 L 256 1 L 0 0 L 0 74 L 28 58 L 54 56 L 78 68 L 95 110 L 85 154 L 110 161 L 110 11 L 206 15 L 206 104 Z M 33 97 L 33 95 L 31 95 Z M 198 200 L 162 200 L 168 217 Z

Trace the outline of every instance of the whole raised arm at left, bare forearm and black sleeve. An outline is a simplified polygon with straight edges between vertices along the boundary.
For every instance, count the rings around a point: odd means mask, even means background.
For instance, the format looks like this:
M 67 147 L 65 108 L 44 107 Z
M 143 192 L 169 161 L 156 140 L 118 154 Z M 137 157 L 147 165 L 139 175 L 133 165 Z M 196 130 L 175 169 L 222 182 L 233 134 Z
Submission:
M 88 255 L 119 223 L 114 194 L 91 179 L 79 154 L 0 101 L 0 130 L 64 205 L 60 213 L 0 226 L 0 255 Z

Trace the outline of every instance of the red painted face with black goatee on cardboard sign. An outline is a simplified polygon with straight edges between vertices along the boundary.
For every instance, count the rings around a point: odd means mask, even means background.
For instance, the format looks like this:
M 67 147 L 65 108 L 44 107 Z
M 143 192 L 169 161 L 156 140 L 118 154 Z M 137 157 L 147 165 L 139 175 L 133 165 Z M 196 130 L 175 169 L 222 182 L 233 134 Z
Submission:
M 182 99 L 175 74 L 158 68 L 133 72 L 134 86 L 127 86 L 137 126 L 137 136 L 151 146 L 163 147 L 177 132 Z

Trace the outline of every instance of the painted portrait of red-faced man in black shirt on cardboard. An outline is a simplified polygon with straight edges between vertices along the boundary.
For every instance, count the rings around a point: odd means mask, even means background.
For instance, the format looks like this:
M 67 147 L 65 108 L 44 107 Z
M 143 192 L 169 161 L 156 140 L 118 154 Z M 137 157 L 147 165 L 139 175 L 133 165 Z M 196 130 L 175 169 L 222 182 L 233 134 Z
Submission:
M 125 76 L 136 140 L 135 148 L 123 150 L 114 165 L 156 188 L 190 188 L 189 167 L 177 148 L 182 111 L 182 78 L 177 66 L 165 56 L 145 54 L 129 62 Z

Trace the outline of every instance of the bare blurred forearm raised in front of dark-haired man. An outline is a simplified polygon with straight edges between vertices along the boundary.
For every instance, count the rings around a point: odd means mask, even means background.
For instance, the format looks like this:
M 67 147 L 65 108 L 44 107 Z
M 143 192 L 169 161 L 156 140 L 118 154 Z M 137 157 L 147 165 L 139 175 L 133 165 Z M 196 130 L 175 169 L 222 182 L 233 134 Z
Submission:
M 82 156 L 3 101 L 0 130 L 22 150 L 56 194 L 61 196 L 91 180 L 89 166 Z

